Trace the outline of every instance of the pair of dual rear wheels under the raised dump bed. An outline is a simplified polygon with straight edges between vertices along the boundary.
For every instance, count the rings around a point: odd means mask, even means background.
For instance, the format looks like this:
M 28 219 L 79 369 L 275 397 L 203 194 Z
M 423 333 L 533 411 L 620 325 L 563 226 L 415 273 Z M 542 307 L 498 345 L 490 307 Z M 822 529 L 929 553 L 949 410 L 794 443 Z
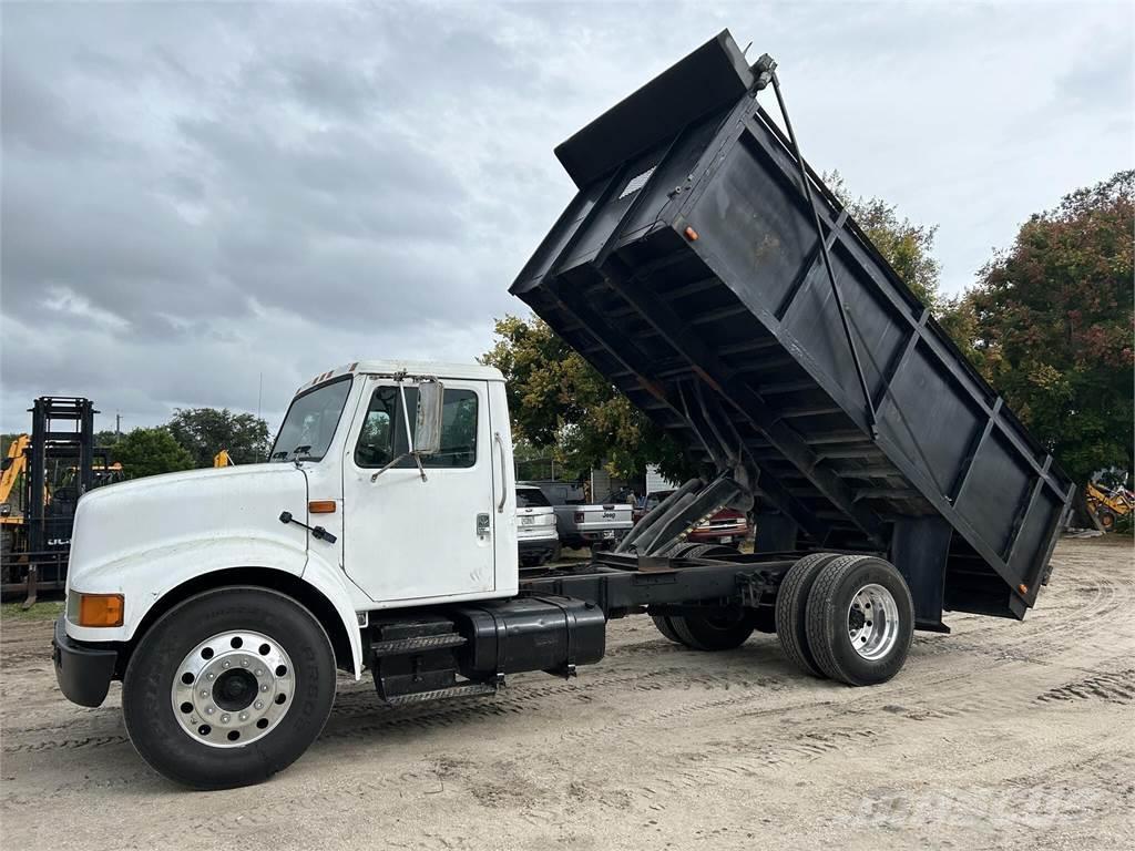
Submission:
M 890 680 L 906 662 L 914 603 L 889 562 L 816 553 L 784 576 L 776 632 L 785 655 L 807 673 L 874 685 Z

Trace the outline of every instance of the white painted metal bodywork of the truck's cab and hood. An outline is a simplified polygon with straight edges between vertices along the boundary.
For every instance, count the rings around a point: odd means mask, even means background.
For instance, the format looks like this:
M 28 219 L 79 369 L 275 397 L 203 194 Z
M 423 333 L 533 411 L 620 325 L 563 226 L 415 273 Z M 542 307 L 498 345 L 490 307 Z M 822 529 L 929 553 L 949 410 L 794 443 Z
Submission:
M 368 471 L 367 489 L 353 481 L 352 492 L 345 494 L 344 460 L 352 455 L 367 388 L 380 380 L 372 376 L 400 372 L 478 388 L 478 461 L 469 469 L 430 470 L 424 483 L 417 470 L 392 469 L 375 483 Z M 195 470 L 84 495 L 72 538 L 68 593 L 120 593 L 125 618 L 117 627 L 68 621 L 67 633 L 79 641 L 127 641 L 154 605 L 191 580 L 228 568 L 280 571 L 330 601 L 350 638 L 359 676 L 358 613 L 514 595 L 514 482 L 511 473 L 505 480 L 495 472 L 513 469 L 501 372 L 465 364 L 362 361 L 321 373 L 300 390 L 344 374 L 355 378 L 322 461 Z M 336 511 L 309 514 L 309 499 L 333 500 Z M 336 540 L 316 539 L 302 525 L 280 522 L 281 512 L 323 526 Z M 491 515 L 490 534 L 479 540 L 477 515 L 485 512 Z M 356 551 L 350 549 L 354 542 Z M 358 555 L 350 575 L 348 553 Z

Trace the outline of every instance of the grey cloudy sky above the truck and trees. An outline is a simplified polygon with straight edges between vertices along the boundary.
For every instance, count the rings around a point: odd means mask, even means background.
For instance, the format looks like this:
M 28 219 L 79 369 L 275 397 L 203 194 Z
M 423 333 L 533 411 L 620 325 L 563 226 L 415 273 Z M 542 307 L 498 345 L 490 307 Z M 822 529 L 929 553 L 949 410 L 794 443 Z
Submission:
M 261 376 L 275 428 L 333 365 L 473 359 L 572 195 L 552 149 L 724 27 L 958 290 L 1135 161 L 1132 9 L 5 2 L 0 429 L 255 411 Z

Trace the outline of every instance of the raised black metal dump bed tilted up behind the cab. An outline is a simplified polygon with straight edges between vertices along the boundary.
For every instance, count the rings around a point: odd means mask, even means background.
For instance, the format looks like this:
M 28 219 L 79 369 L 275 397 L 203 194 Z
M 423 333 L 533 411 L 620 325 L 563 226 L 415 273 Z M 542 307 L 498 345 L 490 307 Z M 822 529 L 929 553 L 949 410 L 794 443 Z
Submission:
M 758 547 L 886 553 L 923 627 L 1023 617 L 1071 482 L 810 169 L 806 194 L 765 59 L 724 32 L 563 143 L 579 193 L 512 293 L 748 471 Z

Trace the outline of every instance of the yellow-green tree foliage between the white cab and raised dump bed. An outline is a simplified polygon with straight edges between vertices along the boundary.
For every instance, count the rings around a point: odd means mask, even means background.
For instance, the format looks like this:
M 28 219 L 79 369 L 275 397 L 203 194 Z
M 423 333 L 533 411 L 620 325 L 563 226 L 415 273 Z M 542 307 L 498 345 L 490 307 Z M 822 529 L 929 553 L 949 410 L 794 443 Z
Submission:
M 539 319 L 505 317 L 480 360 L 507 381 L 513 437 L 529 450 L 550 450 L 564 478 L 600 463 L 620 477 L 658 464 L 681 480 L 690 464 L 680 448 L 609 381 Z

